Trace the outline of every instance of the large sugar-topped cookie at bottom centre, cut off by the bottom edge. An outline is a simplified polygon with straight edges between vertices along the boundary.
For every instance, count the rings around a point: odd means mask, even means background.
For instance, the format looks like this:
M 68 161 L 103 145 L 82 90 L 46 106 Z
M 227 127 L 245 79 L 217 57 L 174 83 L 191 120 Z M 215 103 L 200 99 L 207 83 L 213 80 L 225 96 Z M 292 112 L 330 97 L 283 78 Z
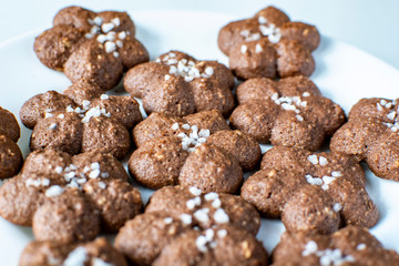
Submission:
M 267 265 L 259 225 L 239 196 L 166 186 L 121 228 L 115 247 L 134 265 Z

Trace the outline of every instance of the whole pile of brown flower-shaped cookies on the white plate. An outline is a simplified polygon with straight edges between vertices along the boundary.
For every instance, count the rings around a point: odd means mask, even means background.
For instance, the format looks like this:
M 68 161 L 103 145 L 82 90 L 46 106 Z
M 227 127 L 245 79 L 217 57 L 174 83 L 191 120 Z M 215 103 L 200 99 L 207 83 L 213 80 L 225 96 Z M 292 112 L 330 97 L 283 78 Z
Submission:
M 34 52 L 72 84 L 21 106 L 24 162 L 0 108 L 0 215 L 35 238 L 20 265 L 399 265 L 368 232 L 379 211 L 359 164 L 399 181 L 399 100 L 347 119 L 309 79 L 314 25 L 274 7 L 231 22 L 228 68 L 176 50 L 150 62 L 134 35 L 125 12 L 57 13 Z M 130 95 L 111 95 L 122 79 Z M 146 205 L 134 184 L 154 190 Z M 272 254 L 260 215 L 286 228 Z

